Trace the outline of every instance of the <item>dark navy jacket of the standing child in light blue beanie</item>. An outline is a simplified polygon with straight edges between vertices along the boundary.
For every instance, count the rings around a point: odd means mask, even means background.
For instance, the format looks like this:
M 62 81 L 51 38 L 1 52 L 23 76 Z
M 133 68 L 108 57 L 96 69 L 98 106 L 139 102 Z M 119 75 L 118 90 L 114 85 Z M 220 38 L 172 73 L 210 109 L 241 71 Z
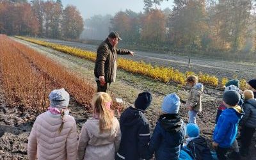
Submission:
M 148 145 L 148 153 L 152 156 L 155 152 L 156 160 L 179 159 L 185 134 L 186 125 L 178 114 L 161 115 Z

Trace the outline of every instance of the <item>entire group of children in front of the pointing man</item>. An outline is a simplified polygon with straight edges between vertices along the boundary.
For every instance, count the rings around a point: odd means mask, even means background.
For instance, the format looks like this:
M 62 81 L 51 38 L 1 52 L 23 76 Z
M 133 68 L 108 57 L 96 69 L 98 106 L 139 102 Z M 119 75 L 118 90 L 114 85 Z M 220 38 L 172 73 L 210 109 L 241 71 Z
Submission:
M 108 93 L 95 93 L 92 99 L 93 114 L 84 123 L 77 141 L 76 121 L 68 115 L 69 94 L 53 90 L 48 111 L 39 115 L 28 141 L 29 159 L 213 159 L 205 138 L 200 136 L 196 115 L 202 111 L 204 86 L 196 76 L 189 76 L 190 88 L 186 108 L 189 122 L 185 124 L 179 115 L 180 99 L 175 93 L 163 99 L 162 114 L 150 136 L 145 110 L 152 102 L 148 92 L 140 93 L 120 116 L 115 118 L 111 110 L 112 100 Z M 223 103 L 218 108 L 212 148 L 218 159 L 226 159 L 229 148 L 231 156 L 246 156 L 256 128 L 256 79 L 248 82 L 243 94 L 239 81 L 227 83 Z M 243 117 L 243 118 L 242 118 Z M 236 140 L 238 124 L 241 124 L 241 148 Z

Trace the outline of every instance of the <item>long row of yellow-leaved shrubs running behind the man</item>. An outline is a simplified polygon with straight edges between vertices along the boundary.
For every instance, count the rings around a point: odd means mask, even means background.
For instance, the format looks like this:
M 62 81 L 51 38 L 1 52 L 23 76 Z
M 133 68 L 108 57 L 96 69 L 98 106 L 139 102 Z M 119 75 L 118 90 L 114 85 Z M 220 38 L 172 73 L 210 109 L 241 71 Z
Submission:
M 41 40 L 36 40 L 33 38 L 27 38 L 23 36 L 15 36 L 22 40 L 26 40 L 28 42 L 32 42 L 35 44 L 43 45 L 45 47 L 51 47 L 52 49 L 56 49 L 57 51 L 65 52 L 67 54 L 73 54 L 75 56 L 79 56 L 81 58 L 85 58 L 86 60 L 95 61 L 96 54 L 95 52 L 84 51 L 82 49 L 77 49 L 76 47 L 68 47 L 66 45 L 53 44 L 50 42 L 44 42 Z M 128 72 L 132 72 L 135 74 L 142 74 L 152 79 L 156 79 L 158 81 L 162 81 L 164 83 L 168 83 L 170 81 L 184 85 L 186 84 L 186 77 L 189 75 L 196 75 L 194 72 L 186 72 L 185 74 L 180 72 L 179 70 L 175 70 L 172 67 L 157 67 L 152 66 L 149 63 L 145 63 L 143 61 L 132 61 L 127 60 L 125 58 L 118 58 L 117 60 L 118 68 L 122 68 Z M 198 81 L 203 84 L 208 84 L 210 86 L 218 86 L 219 79 L 216 76 L 210 76 L 209 74 L 200 73 L 198 75 Z M 228 79 L 221 79 L 221 84 L 225 85 Z M 240 81 L 241 89 L 244 90 L 246 88 L 246 81 L 242 79 Z

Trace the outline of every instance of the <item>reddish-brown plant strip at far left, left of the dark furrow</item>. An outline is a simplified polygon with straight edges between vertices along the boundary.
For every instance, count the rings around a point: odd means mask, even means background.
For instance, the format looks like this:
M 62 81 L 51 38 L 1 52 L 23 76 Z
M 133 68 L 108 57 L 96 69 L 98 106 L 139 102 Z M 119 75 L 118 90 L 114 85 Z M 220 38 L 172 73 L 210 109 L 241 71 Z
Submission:
M 11 106 L 21 104 L 26 108 L 38 106 L 43 109 L 49 105 L 44 94 L 52 89 L 49 79 L 31 68 L 12 40 L 4 35 L 0 35 L 0 74 L 4 97 Z

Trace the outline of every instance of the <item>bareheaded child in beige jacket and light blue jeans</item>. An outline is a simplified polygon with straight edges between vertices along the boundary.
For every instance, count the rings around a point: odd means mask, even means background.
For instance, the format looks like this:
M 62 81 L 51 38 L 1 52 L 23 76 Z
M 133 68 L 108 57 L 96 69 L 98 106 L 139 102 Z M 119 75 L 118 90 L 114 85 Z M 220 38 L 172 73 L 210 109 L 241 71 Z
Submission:
M 189 109 L 189 123 L 196 124 L 196 115 L 202 111 L 202 93 L 204 86 L 198 83 L 196 76 L 189 76 L 187 78 L 187 84 L 190 92 L 185 107 Z

